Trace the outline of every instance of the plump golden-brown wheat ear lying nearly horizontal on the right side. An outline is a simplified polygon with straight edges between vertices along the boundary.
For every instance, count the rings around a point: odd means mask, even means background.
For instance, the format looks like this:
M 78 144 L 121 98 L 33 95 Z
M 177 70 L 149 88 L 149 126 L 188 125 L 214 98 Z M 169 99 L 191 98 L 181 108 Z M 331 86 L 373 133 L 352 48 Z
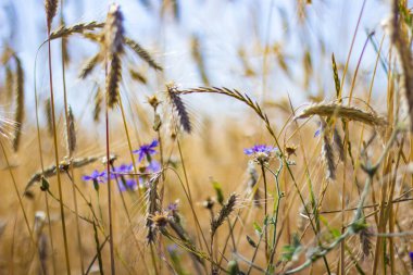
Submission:
M 310 107 L 305 108 L 296 116 L 296 120 L 298 118 L 305 118 L 312 115 L 320 115 L 320 116 L 337 116 L 342 117 L 349 121 L 358 121 L 364 124 L 368 124 L 372 126 L 386 126 L 387 121 L 385 117 L 379 116 L 375 113 L 370 113 L 362 111 L 354 107 L 343 107 L 341 104 L 337 104 L 334 102 L 330 103 L 314 103 Z

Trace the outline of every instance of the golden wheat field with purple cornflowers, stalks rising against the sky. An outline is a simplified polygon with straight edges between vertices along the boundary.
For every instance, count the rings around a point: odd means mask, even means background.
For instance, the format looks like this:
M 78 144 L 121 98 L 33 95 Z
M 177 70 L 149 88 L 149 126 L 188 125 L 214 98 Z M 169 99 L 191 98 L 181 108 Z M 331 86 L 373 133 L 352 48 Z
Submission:
M 177 14 L 179 2 L 165 2 Z M 60 5 L 63 1 L 45 1 L 48 38 L 40 48 L 48 49 L 50 95 L 43 105 L 35 84 L 35 108 L 25 110 L 22 60 L 11 47 L 2 49 L 2 99 L 12 99 L 15 110 L 14 117 L 0 121 L 0 217 L 8 216 L 0 220 L 1 274 L 413 273 L 413 14 L 408 1 L 391 1 L 364 98 L 354 96 L 363 53 L 348 91 L 345 85 L 351 48 L 341 72 L 331 55 L 335 100 L 314 99 L 300 108 L 209 86 L 197 37 L 192 58 L 205 87 L 163 84 L 143 108 L 123 95 L 126 73 L 147 84 L 145 74 L 127 63 L 129 55 L 160 76 L 163 66 L 126 35 L 122 8 L 111 4 L 104 22 L 66 25 L 61 16 L 52 29 Z M 99 46 L 79 73 L 87 82 L 97 67 L 104 72 L 104 85 L 96 84 L 93 105 L 86 108 L 97 125 L 104 125 L 97 137 L 87 130 L 92 125 L 77 127 L 67 98 L 73 36 Z M 383 57 L 386 38 L 389 54 Z M 59 62 L 52 62 L 59 57 L 52 54 L 54 40 L 61 41 Z M 277 49 L 278 64 L 287 70 Z M 239 52 L 246 75 L 253 75 L 246 54 Z M 304 60 L 309 73 L 310 53 Z M 372 107 L 380 62 L 388 76 L 387 105 L 380 110 L 386 115 Z M 59 63 L 62 73 L 52 67 Z M 57 78 L 63 107 L 54 100 Z M 184 102 L 187 95 L 201 93 L 227 97 L 250 112 L 245 122 L 222 118 L 225 130 L 212 125 L 220 114 L 205 121 L 202 139 Z M 34 114 L 35 125 L 25 125 L 25 111 Z M 309 121 L 318 122 L 315 135 Z M 252 138 L 246 137 L 247 124 L 258 133 Z

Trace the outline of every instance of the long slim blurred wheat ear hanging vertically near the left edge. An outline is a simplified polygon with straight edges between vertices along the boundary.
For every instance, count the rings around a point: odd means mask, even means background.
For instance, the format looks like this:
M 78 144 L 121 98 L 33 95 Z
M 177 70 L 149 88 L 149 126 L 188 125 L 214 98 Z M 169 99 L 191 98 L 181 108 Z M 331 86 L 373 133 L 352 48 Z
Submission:
M 20 145 L 20 138 L 22 135 L 22 123 L 24 120 L 24 72 L 21 60 L 14 55 L 16 62 L 16 79 L 15 79 L 15 114 L 14 121 L 16 122 L 16 128 L 13 138 L 13 149 L 17 151 Z

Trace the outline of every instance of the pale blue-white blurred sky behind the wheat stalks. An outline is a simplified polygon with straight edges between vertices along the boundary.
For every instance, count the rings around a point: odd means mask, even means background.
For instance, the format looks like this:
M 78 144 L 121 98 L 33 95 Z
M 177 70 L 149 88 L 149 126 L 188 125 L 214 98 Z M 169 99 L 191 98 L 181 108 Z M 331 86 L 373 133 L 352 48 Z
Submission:
M 163 18 L 160 16 L 161 1 L 148 0 L 151 8 L 139 0 L 116 1 L 124 13 L 125 29 L 128 36 L 143 45 L 153 57 L 165 67 L 164 77 L 157 77 L 149 70 L 150 84 L 146 86 L 134 85 L 133 92 L 151 95 L 163 89 L 163 83 L 174 80 L 183 87 L 203 86 L 199 72 L 195 65 L 190 51 L 190 37 L 200 37 L 202 54 L 205 60 L 211 85 L 237 88 L 247 91 L 260 99 L 263 91 L 263 46 L 275 45 L 281 48 L 286 62 L 290 67 L 288 77 L 276 64 L 274 54 L 270 54 L 267 62 L 270 73 L 266 78 L 266 95 L 278 99 L 292 95 L 296 105 L 306 100 L 305 92 L 315 95 L 324 90 L 327 97 L 334 97 L 334 82 L 330 68 L 330 54 L 335 53 L 339 63 L 346 61 L 353 30 L 362 7 L 361 0 L 313 0 L 306 5 L 306 20 L 300 22 L 298 1 L 285 0 L 182 0 L 180 20 L 176 22 L 171 13 Z M 66 24 L 89 21 L 104 21 L 108 7 L 112 1 L 103 0 L 66 0 L 64 16 Z M 380 22 L 387 16 L 388 2 L 367 0 L 365 12 L 361 21 L 356 37 L 350 70 L 354 70 L 362 46 L 366 39 L 365 29 L 376 30 L 376 38 L 383 35 Z M 13 10 L 14 7 L 14 10 Z M 12 37 L 12 47 L 22 58 L 26 71 L 26 102 L 34 102 L 34 64 L 38 46 L 46 38 L 45 13 L 42 0 L 1 0 L 0 2 L 0 47 L 4 40 Z M 54 20 L 54 28 L 59 25 Z M 322 53 L 321 42 L 324 45 Z M 59 64 L 59 41 L 53 42 L 53 72 L 55 75 L 55 89 L 59 91 L 61 83 L 61 68 Z M 97 48 L 84 42 L 78 37 L 70 40 L 73 63 L 67 70 L 67 88 L 70 101 L 75 109 L 83 107 L 95 85 L 93 80 L 102 82 L 102 72 L 93 72 L 92 79 L 80 82 L 77 78 L 82 62 L 91 57 Z M 256 72 L 256 77 L 246 77 L 238 51 L 242 48 L 248 52 L 248 61 Z M 302 87 L 301 60 L 305 49 L 312 54 L 316 75 L 312 78 L 306 90 Z M 41 98 L 48 95 L 47 57 L 46 47 L 40 50 L 38 58 L 37 80 Z M 136 64 L 141 62 L 132 58 Z M 375 51 L 372 45 L 366 48 L 361 65 L 361 75 L 368 76 L 373 70 Z M 124 61 L 124 64 L 126 64 Z M 142 66 L 143 70 L 145 66 Z M 379 70 L 380 71 L 380 70 Z M 378 72 L 383 78 L 383 72 Z M 129 78 L 124 77 L 128 83 Z M 378 86 L 374 92 L 383 92 L 386 87 Z M 129 91 L 130 92 L 130 91 Z M 345 91 L 346 93 L 346 91 Z M 58 93 L 61 95 L 61 93 Z M 234 107 L 231 101 L 225 99 L 204 98 L 213 102 L 215 112 L 225 112 Z M 192 108 L 202 108 L 204 101 L 190 102 Z M 58 96 L 58 104 L 61 97 Z M 192 101 L 192 100 L 191 100 Z M 77 104 L 78 102 L 78 104 Z M 206 110 L 210 112 L 211 110 Z

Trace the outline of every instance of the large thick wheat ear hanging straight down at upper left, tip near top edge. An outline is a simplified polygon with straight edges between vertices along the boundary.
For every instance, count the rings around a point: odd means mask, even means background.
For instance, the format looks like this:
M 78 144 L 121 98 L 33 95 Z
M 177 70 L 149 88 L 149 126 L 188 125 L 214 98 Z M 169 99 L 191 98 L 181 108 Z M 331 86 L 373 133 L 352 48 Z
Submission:
M 118 100 L 118 86 L 122 77 L 121 54 L 123 53 L 123 16 L 117 4 L 112 4 L 104 24 L 104 46 L 107 53 L 107 103 L 113 108 Z

